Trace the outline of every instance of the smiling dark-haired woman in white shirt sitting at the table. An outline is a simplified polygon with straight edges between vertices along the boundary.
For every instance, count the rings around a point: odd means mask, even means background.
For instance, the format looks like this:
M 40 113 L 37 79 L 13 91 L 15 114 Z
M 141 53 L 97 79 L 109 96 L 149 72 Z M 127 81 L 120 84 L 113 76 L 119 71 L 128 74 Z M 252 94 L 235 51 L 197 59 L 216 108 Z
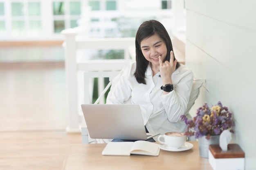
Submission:
M 113 81 L 107 104 L 139 105 L 150 133 L 184 132 L 180 116 L 189 102 L 193 72 L 175 59 L 171 39 L 156 20 L 139 26 L 135 46 L 136 63 Z

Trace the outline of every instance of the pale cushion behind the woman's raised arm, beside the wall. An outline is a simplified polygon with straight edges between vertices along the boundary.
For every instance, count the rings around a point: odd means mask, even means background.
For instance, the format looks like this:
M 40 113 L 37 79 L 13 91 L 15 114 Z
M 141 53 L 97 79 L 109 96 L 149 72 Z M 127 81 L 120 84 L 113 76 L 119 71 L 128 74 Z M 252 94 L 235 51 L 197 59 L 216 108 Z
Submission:
M 198 96 L 200 94 L 200 88 L 204 85 L 205 82 L 206 81 L 204 78 L 196 78 L 193 80 L 192 92 L 191 92 L 191 95 L 189 98 L 189 103 L 188 103 L 187 109 L 184 112 L 185 115 L 189 113 L 190 109 L 195 104 L 195 100 L 198 98 Z

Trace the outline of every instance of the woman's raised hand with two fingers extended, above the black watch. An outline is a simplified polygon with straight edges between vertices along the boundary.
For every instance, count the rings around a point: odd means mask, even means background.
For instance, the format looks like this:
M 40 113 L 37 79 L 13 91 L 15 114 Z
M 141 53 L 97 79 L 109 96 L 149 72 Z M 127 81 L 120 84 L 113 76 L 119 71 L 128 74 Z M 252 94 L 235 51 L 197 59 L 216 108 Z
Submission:
M 173 61 L 173 51 L 170 52 L 170 61 Z M 173 62 L 169 62 L 169 61 L 164 61 L 161 56 L 158 57 L 159 59 L 159 71 L 160 71 L 160 75 L 163 81 L 163 85 L 166 84 L 173 84 L 172 80 L 171 80 L 171 75 L 173 74 L 173 72 L 176 69 L 176 65 L 177 65 L 177 59 L 175 59 L 175 61 Z

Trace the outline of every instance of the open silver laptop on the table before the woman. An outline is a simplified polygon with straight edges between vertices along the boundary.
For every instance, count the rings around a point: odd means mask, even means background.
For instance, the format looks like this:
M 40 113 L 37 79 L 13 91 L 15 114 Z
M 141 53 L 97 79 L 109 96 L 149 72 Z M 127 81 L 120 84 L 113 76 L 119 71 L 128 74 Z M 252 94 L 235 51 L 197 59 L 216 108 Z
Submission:
M 146 133 L 139 105 L 81 105 L 92 139 L 147 140 L 159 133 Z

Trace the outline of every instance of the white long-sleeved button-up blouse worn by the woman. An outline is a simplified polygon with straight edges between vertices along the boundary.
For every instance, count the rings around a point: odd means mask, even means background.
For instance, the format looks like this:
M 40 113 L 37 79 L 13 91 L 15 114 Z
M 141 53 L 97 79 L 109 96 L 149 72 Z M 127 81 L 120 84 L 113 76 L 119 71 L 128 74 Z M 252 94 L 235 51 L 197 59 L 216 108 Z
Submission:
M 163 95 L 160 72 L 153 76 L 149 64 L 145 85 L 137 82 L 135 69 L 136 63 L 131 63 L 112 81 L 106 103 L 139 105 L 144 125 L 150 133 L 184 132 L 186 124 L 180 116 L 189 102 L 193 72 L 181 64 L 172 74 L 174 90 Z M 157 141 L 157 137 L 154 139 Z

